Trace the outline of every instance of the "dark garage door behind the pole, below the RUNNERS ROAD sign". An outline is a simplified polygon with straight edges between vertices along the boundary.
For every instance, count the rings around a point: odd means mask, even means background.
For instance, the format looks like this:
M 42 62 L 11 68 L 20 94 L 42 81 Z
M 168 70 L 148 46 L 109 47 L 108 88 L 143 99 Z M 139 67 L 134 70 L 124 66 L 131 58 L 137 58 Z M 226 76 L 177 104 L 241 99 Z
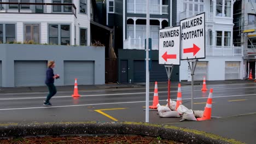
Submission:
M 146 70 L 144 61 L 134 61 L 133 64 L 134 82 L 146 82 Z M 171 77 L 172 80 L 179 80 L 178 67 L 175 67 Z M 168 81 L 164 65 L 159 65 L 158 61 L 152 61 L 152 70 L 149 73 L 149 81 Z

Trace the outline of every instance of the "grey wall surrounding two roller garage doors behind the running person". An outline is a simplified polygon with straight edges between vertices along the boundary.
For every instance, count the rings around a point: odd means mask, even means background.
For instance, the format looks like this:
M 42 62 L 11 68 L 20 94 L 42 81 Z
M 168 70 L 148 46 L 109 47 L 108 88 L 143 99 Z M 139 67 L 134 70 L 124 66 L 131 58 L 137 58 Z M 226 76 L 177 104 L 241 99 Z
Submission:
M 63 61 L 94 61 L 95 85 L 105 83 L 105 48 L 94 46 L 0 44 L 3 87 L 14 87 L 14 61 L 48 61 L 56 63 L 55 70 L 64 75 Z M 56 81 L 64 85 L 64 79 Z

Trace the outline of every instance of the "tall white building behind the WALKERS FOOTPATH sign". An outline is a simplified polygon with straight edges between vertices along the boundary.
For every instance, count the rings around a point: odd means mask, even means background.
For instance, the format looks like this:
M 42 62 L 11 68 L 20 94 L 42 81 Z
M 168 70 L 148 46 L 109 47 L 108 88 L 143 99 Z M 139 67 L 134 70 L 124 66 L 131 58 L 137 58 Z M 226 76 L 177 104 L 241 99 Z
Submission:
M 177 2 L 177 3 L 176 3 Z M 176 25 L 179 20 L 205 12 L 206 58 L 200 59 L 195 80 L 243 79 L 243 48 L 233 46 L 234 0 L 179 0 Z M 191 80 L 188 62 L 182 61 L 180 80 Z

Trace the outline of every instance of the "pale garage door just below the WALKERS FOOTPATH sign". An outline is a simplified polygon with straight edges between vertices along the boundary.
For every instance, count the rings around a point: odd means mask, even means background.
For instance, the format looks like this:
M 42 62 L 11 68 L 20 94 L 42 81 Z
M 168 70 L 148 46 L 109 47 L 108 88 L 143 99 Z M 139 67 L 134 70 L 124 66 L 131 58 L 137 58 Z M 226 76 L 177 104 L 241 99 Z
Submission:
M 202 81 L 203 76 L 207 79 L 207 62 L 197 62 L 194 74 L 195 81 Z

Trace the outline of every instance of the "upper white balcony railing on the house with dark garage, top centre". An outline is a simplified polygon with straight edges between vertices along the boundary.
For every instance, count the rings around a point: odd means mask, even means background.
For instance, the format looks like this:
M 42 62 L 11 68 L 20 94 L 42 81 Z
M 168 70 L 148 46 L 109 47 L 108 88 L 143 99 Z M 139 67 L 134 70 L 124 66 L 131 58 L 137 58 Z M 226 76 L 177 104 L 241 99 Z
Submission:
M 139 3 L 127 3 L 127 13 L 146 14 L 147 5 Z M 168 5 L 149 4 L 150 14 L 168 14 Z

